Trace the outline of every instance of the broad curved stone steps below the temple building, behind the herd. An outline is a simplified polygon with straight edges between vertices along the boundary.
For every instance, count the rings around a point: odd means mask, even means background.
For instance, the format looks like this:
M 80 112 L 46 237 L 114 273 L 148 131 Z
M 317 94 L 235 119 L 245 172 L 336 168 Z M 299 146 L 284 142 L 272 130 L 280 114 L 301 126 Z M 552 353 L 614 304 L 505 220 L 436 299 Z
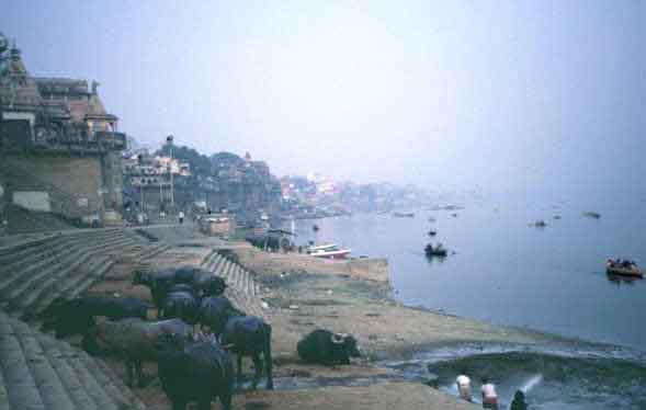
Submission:
M 0 249 L 0 307 L 36 317 L 56 297 L 76 297 L 122 259 L 140 262 L 167 250 L 128 229 L 67 231 Z

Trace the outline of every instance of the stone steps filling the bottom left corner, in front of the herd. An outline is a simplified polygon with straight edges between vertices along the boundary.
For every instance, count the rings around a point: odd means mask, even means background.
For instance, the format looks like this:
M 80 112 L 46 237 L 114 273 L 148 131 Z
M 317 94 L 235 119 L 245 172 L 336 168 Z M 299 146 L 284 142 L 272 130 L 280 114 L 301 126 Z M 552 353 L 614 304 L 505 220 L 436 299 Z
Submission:
M 0 311 L 0 410 L 145 410 L 101 361 Z

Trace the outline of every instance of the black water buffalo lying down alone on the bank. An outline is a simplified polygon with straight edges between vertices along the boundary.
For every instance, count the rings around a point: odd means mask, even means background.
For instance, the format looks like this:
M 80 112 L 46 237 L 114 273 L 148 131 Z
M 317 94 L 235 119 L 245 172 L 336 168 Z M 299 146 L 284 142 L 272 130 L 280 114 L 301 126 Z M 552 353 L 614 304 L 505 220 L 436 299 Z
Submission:
M 356 339 L 324 329 L 317 329 L 307 334 L 296 348 L 303 361 L 326 366 L 350 364 L 350 357 L 361 356 Z

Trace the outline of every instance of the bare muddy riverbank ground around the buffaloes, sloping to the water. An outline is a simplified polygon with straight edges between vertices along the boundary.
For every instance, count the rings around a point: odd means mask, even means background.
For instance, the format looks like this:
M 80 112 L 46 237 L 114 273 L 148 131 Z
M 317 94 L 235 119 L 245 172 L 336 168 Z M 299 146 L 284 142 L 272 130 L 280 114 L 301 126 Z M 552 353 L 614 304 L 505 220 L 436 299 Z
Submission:
M 200 265 L 211 249 L 211 246 L 177 247 L 148 262 L 148 267 Z M 330 262 L 308 255 L 261 252 L 246 243 L 225 243 L 216 249 L 228 249 L 226 253 L 234 253 L 233 258 L 262 285 L 264 308 L 260 314 L 273 329 L 275 390 L 251 391 L 243 387 L 234 398 L 237 410 L 476 409 L 476 405 L 458 400 L 444 388 L 423 384 L 430 376 L 426 371 L 427 354 L 468 351 L 477 354 L 500 346 L 536 351 L 614 349 L 403 306 L 392 297 L 388 265 L 383 259 Z M 131 285 L 135 267 L 123 261 L 92 292 L 117 292 L 149 299 L 144 287 Z M 261 301 L 245 297 L 236 300 L 242 303 L 240 307 L 245 310 Z M 363 357 L 353 360 L 349 366 L 302 363 L 296 344 L 317 328 L 353 334 Z M 405 366 L 413 362 L 421 365 L 415 372 L 405 372 L 397 361 L 406 362 Z M 250 362 L 245 361 L 247 375 L 252 372 Z M 125 377 L 120 361 L 109 363 Z M 145 372 L 156 375 L 156 365 L 146 363 Z M 151 409 L 169 409 L 156 378 L 135 392 Z

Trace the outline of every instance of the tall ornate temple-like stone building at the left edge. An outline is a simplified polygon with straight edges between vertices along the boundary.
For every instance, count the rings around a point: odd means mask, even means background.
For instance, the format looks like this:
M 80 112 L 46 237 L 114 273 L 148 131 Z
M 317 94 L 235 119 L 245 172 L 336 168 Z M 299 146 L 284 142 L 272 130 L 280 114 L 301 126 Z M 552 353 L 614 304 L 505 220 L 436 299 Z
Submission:
M 120 218 L 126 136 L 98 86 L 31 76 L 20 49 L 0 34 L 3 218 L 10 207 L 77 223 Z

